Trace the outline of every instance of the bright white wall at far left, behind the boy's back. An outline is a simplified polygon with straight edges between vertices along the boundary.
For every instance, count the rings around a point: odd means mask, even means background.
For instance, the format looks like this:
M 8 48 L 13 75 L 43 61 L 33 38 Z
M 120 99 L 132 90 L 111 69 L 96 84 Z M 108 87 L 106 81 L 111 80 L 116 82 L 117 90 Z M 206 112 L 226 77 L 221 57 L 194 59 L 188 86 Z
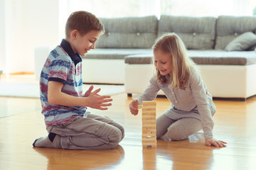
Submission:
M 0 0 L 1 53 L 4 73 L 34 72 L 36 46 L 58 45 L 57 0 Z

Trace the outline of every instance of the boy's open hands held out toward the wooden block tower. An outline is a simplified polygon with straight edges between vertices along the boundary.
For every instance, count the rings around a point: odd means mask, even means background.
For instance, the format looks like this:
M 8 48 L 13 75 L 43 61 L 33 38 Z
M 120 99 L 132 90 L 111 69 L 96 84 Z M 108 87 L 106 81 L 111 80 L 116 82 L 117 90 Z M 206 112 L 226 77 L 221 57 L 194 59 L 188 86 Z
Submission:
M 86 91 L 85 96 L 88 97 L 88 103 L 87 106 L 90 108 L 96 108 L 100 110 L 107 110 L 108 106 L 111 106 L 112 103 L 109 103 L 112 101 L 111 96 L 100 96 L 99 93 L 100 89 L 97 89 L 95 91 L 92 91 L 93 86 L 90 86 L 90 88 Z

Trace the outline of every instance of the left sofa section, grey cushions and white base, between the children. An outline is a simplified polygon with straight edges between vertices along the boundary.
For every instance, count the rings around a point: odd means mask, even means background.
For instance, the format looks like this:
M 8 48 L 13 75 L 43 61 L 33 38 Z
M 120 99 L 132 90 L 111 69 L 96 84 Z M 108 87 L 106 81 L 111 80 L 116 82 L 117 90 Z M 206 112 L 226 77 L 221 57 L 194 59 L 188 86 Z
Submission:
M 156 16 L 101 18 L 105 34 L 83 58 L 85 83 L 124 84 L 124 57 L 151 52 L 157 37 Z

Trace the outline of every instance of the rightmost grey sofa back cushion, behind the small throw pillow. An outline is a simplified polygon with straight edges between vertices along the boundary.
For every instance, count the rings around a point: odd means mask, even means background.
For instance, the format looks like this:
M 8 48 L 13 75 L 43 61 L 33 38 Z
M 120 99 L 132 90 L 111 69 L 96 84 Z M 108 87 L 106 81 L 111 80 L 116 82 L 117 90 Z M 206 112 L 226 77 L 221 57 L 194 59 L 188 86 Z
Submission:
M 216 25 L 215 50 L 224 50 L 229 42 L 242 33 L 255 33 L 255 30 L 255 16 L 219 16 Z

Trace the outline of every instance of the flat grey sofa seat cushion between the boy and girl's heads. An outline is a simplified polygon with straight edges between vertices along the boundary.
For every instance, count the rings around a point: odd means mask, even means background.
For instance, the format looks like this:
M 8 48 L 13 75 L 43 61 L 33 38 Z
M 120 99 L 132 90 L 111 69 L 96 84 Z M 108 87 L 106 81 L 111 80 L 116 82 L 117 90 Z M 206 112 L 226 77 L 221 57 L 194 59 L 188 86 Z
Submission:
M 90 52 L 82 57 L 82 59 L 124 59 L 127 55 L 134 55 L 134 54 L 147 54 L 151 52 L 151 48 L 97 48 L 95 50 L 90 50 Z

